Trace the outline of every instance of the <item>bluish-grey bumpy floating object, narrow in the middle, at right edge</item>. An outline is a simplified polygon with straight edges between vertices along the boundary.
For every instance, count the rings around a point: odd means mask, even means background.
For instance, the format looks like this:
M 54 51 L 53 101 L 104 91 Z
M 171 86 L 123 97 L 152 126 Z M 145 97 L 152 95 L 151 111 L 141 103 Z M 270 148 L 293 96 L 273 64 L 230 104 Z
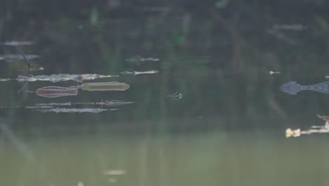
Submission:
M 299 85 L 297 82 L 291 81 L 281 85 L 280 89 L 282 92 L 290 95 L 296 95 L 302 90 L 311 90 L 329 94 L 329 82 L 320 82 L 316 85 Z

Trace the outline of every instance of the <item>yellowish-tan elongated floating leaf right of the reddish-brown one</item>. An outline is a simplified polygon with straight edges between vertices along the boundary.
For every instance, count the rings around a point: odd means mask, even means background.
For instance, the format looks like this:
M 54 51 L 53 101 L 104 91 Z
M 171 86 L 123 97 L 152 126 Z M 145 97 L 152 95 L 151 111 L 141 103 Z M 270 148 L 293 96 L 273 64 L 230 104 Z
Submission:
M 88 91 L 110 91 L 110 90 L 118 90 L 124 91 L 129 89 L 129 85 L 124 82 L 86 82 L 82 83 L 82 85 L 72 86 Z

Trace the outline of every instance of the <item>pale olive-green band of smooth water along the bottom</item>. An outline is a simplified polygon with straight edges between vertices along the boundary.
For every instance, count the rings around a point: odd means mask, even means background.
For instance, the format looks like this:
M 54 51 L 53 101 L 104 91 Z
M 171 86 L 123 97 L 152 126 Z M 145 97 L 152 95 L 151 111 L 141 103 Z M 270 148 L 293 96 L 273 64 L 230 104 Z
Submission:
M 324 137 L 278 131 L 22 138 L 1 142 L 1 185 L 326 185 Z M 105 170 L 124 170 L 104 175 Z

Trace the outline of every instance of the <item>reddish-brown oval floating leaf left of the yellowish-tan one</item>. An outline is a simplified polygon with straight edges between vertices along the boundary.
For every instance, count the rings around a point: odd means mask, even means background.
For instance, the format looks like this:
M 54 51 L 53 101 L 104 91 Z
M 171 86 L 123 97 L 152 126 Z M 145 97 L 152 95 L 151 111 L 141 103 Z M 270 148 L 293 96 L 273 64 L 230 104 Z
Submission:
M 42 87 L 35 92 L 40 97 L 65 97 L 65 96 L 77 96 L 78 89 L 73 87 Z

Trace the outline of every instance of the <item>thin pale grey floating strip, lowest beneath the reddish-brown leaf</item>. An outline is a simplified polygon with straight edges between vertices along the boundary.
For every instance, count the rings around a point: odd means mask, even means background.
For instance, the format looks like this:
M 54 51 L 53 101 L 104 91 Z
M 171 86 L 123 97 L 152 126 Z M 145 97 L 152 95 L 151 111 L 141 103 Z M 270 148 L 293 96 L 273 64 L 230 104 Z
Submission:
M 117 109 L 101 109 L 101 108 L 55 108 L 55 109 L 35 109 L 42 113 L 101 113 L 103 111 L 117 111 Z

